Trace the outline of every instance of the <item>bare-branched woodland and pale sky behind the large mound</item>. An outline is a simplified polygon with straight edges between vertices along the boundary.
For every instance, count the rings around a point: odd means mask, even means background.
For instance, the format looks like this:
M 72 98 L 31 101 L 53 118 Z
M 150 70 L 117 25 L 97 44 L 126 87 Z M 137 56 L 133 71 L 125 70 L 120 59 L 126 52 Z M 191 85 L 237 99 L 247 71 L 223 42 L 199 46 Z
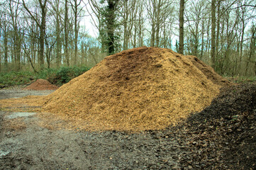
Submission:
M 256 75 L 256 0 L 0 0 L 0 16 L 1 73 L 90 68 L 146 45 L 195 55 L 223 76 Z

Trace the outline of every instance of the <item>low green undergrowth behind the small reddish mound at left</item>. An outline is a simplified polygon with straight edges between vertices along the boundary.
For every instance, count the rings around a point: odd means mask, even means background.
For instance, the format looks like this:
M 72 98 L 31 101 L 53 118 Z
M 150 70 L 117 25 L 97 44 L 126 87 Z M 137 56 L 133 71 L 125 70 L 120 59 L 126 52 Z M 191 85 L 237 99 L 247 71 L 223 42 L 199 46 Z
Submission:
M 47 79 L 51 84 L 61 86 L 88 70 L 88 67 L 60 67 L 60 69 L 43 69 L 38 73 L 29 71 L 1 72 L 0 88 L 26 85 L 37 79 Z

